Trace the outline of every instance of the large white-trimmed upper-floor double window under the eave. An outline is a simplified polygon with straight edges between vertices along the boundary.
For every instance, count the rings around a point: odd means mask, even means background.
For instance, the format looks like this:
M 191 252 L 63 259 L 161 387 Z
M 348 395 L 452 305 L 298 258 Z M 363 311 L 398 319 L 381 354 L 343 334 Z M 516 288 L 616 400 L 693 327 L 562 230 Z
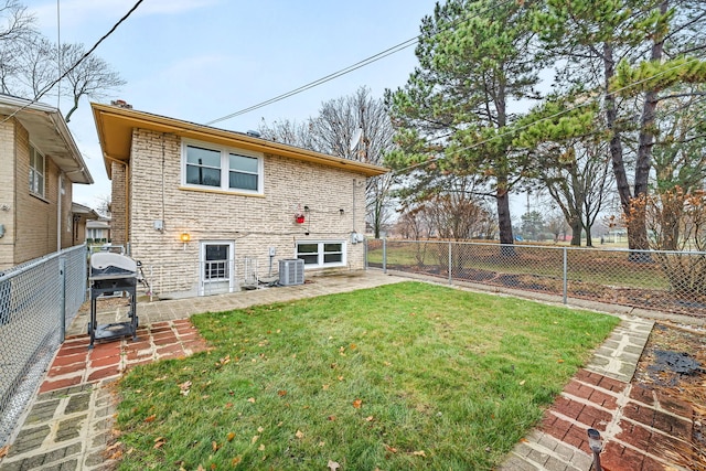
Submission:
M 258 152 L 184 141 L 182 174 L 185 186 L 263 194 L 263 154 Z

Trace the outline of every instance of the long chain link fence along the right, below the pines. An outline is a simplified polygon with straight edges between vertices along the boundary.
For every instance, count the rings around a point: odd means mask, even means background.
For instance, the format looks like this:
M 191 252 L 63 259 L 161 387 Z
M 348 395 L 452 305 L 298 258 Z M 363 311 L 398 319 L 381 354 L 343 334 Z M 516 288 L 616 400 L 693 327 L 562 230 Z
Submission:
M 368 267 L 706 318 L 706 253 L 367 240 Z

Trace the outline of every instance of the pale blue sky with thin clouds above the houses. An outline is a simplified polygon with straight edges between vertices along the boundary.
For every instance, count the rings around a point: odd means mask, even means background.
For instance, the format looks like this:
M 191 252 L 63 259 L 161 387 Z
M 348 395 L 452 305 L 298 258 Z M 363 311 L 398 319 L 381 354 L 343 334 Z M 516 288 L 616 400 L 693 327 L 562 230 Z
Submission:
M 23 2 L 57 39 L 57 2 Z M 90 47 L 133 0 L 61 0 L 61 41 Z M 145 0 L 96 51 L 127 84 L 113 98 L 135 109 L 207 122 L 272 98 L 416 36 L 432 0 Z M 217 127 L 246 131 L 261 120 L 302 120 L 322 101 L 360 86 L 382 97 L 417 64 L 414 46 Z M 56 103 L 49 101 L 50 105 Z M 62 108 L 66 110 L 67 104 Z M 88 206 L 110 193 L 88 101 L 69 122 L 96 182 L 74 185 Z

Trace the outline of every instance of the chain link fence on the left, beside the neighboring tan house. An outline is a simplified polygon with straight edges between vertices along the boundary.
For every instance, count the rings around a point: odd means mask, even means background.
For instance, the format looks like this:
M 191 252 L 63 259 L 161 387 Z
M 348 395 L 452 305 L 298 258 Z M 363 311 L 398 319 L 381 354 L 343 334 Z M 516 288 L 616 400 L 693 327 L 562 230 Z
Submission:
M 86 299 L 86 247 L 0 272 L 0 447 Z

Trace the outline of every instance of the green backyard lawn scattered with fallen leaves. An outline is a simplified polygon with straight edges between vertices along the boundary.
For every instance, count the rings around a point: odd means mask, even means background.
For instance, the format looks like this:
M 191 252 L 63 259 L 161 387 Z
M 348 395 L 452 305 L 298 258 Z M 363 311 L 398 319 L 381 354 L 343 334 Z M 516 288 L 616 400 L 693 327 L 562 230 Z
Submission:
M 488 470 L 619 322 L 418 282 L 193 321 L 119 384 L 121 469 Z

